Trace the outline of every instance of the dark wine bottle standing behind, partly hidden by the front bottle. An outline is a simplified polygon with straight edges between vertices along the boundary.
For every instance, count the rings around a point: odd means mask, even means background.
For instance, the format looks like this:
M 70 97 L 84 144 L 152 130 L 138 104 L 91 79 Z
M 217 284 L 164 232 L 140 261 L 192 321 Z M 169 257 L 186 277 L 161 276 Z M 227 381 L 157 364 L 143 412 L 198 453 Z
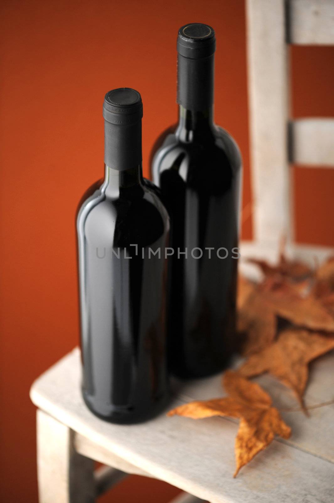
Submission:
M 170 368 L 191 378 L 221 371 L 234 349 L 241 157 L 213 122 L 214 30 L 183 26 L 177 48 L 179 124 L 160 135 L 151 158 L 174 248 Z

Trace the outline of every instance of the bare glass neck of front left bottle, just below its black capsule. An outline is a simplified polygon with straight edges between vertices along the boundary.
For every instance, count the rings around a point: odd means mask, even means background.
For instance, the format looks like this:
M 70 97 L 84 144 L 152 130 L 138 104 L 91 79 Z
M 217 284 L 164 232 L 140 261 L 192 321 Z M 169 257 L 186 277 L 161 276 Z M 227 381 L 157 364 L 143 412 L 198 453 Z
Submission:
M 105 178 L 103 183 L 105 194 L 111 198 L 117 198 L 122 194 L 128 196 L 133 193 L 142 193 L 142 167 L 141 163 L 128 170 L 116 170 L 105 166 Z

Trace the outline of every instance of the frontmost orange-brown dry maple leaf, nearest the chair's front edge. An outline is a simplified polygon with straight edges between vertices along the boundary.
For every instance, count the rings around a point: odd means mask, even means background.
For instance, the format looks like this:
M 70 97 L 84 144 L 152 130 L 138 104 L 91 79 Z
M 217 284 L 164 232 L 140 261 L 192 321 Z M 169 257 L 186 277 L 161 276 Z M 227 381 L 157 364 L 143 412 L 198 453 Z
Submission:
M 223 376 L 223 386 L 229 396 L 186 403 L 171 410 L 168 415 L 193 419 L 216 415 L 240 418 L 235 443 L 235 477 L 240 468 L 268 447 L 275 435 L 289 438 L 291 428 L 284 423 L 278 410 L 272 406 L 270 396 L 258 384 L 228 370 Z

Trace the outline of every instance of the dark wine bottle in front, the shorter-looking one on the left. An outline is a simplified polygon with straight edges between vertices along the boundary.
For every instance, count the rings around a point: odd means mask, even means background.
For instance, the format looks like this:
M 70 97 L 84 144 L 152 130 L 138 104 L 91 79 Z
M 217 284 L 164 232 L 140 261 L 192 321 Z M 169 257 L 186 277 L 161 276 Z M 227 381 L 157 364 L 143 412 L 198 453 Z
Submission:
M 104 420 L 136 423 L 168 396 L 170 223 L 142 178 L 140 94 L 110 91 L 103 117 L 105 179 L 86 192 L 77 216 L 82 393 Z

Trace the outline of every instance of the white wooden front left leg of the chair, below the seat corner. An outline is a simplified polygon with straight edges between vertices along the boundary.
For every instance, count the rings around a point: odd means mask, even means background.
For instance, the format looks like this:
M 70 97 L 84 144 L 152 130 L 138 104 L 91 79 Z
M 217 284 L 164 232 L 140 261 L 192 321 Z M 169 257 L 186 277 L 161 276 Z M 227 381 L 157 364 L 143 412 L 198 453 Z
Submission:
M 40 503 L 94 503 L 94 462 L 74 448 L 75 433 L 37 410 L 37 474 Z

